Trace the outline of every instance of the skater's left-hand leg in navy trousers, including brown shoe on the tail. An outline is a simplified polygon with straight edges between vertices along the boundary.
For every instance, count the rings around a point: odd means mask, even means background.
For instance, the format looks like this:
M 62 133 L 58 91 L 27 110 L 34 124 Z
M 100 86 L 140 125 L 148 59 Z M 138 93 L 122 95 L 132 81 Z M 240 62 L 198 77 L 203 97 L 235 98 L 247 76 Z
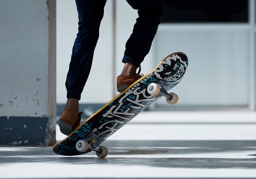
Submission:
M 80 123 L 79 100 L 90 73 L 105 3 L 106 0 L 76 0 L 79 27 L 66 80 L 68 100 L 59 119 L 60 130 L 66 135 Z

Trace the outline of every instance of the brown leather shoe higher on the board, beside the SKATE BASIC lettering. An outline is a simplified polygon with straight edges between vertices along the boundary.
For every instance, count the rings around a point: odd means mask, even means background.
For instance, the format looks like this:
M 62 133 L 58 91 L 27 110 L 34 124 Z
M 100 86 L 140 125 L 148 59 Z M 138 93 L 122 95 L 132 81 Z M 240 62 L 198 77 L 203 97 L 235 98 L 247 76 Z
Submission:
M 116 87 L 118 92 L 123 92 L 126 88 L 128 88 L 131 84 L 133 84 L 135 81 L 140 79 L 143 74 L 140 74 L 141 67 L 139 68 L 138 74 L 136 73 L 135 75 L 132 76 L 126 76 L 126 75 L 119 75 L 117 77 L 116 81 Z

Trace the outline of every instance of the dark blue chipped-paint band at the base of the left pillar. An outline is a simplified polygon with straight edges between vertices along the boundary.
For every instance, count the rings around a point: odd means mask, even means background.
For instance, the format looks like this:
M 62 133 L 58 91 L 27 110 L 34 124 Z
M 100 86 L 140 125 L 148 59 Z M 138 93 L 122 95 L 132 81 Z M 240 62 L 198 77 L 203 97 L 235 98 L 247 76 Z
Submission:
M 0 117 L 0 145 L 53 145 L 55 117 Z

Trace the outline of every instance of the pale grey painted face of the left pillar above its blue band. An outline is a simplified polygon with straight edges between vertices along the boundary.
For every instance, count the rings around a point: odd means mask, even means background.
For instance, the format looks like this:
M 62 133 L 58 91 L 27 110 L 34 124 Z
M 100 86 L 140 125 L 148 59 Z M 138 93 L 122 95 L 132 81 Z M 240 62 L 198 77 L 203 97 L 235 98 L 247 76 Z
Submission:
M 0 116 L 48 116 L 46 0 L 0 4 Z

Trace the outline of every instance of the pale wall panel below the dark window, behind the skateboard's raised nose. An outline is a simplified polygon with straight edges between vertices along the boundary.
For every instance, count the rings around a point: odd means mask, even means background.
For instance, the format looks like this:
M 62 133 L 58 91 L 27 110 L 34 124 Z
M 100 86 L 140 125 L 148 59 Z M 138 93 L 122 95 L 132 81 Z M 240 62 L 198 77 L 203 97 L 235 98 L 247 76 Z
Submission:
M 188 70 L 173 92 L 177 105 L 248 105 L 248 28 L 246 25 L 165 25 L 155 38 L 155 57 L 171 51 L 188 56 Z M 157 101 L 165 105 L 165 99 Z

